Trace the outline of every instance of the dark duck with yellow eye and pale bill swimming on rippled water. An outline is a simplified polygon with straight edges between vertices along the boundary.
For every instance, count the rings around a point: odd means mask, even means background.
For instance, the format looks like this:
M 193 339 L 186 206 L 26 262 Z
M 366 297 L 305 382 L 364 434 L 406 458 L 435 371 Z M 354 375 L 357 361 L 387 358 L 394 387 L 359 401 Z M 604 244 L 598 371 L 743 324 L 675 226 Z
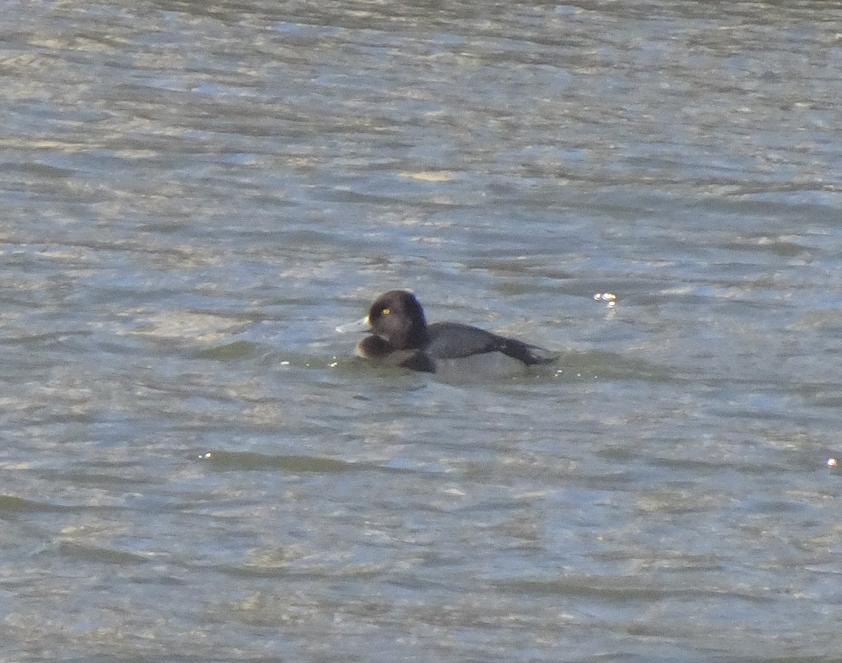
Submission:
M 360 357 L 428 373 L 435 373 L 442 363 L 451 363 L 450 360 L 492 355 L 514 359 L 520 366 L 555 359 L 541 347 L 478 327 L 459 322 L 428 325 L 424 309 L 415 295 L 406 290 L 381 294 L 363 320 L 336 328 L 337 332 L 354 330 L 372 332 L 357 344 L 356 353 Z

